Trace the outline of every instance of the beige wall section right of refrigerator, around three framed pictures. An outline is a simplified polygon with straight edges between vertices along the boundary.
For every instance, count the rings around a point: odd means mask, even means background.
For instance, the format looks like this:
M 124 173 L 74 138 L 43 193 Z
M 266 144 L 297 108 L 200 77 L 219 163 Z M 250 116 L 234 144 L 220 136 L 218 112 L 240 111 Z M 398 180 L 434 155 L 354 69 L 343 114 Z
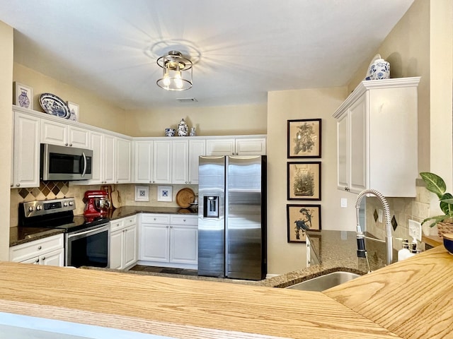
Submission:
M 347 97 L 343 88 L 268 93 L 268 273 L 305 267 L 305 244 L 287 242 L 287 204 L 321 204 L 323 230 L 355 230 L 355 195 L 337 187 L 336 120 L 332 114 Z M 287 159 L 287 120 L 322 119 L 321 158 Z M 287 162 L 321 161 L 321 201 L 287 201 Z M 340 208 L 346 198 L 348 208 Z

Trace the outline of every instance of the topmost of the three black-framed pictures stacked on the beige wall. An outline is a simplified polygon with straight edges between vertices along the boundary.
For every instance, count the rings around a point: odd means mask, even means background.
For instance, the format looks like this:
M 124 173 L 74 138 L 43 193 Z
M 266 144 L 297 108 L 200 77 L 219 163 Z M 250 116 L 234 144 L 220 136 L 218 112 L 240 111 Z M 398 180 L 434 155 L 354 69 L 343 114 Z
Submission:
M 321 157 L 321 119 L 288 120 L 288 157 Z

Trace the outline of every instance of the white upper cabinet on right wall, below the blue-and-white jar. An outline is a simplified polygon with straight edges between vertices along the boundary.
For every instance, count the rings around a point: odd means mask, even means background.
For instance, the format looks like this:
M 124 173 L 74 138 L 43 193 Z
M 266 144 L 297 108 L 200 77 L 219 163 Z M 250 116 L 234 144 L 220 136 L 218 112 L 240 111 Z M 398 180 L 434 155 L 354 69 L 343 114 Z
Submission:
M 362 81 L 336 110 L 338 189 L 415 196 L 419 81 Z

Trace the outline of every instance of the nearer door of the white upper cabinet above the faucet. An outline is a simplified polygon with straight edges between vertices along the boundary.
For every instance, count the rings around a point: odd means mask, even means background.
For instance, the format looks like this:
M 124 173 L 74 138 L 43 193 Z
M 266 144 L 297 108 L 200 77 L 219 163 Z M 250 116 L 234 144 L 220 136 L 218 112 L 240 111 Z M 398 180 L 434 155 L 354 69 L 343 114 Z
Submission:
M 350 184 L 351 192 L 360 193 L 367 188 L 367 132 L 366 95 L 362 95 L 349 109 L 350 124 Z M 383 160 L 384 161 L 384 160 Z

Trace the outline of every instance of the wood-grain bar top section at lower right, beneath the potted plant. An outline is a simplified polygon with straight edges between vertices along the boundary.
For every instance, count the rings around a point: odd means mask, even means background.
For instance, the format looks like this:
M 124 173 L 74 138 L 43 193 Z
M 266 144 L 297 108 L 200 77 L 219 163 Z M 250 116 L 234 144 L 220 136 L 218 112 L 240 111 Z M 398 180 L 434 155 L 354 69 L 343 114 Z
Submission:
M 443 245 L 323 293 L 402 338 L 453 338 L 453 256 Z

